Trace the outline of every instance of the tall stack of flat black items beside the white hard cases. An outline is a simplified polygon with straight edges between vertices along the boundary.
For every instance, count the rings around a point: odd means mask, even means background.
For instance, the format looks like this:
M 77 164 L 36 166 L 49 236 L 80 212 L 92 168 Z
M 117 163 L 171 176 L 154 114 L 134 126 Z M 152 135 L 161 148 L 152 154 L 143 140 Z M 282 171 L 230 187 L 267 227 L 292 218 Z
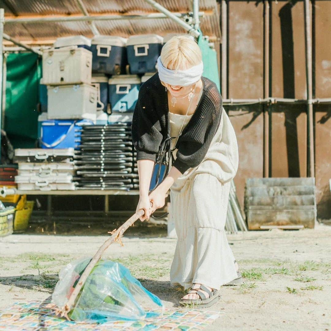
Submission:
M 75 158 L 78 189 L 139 188 L 130 123 L 84 126 L 79 148 Z

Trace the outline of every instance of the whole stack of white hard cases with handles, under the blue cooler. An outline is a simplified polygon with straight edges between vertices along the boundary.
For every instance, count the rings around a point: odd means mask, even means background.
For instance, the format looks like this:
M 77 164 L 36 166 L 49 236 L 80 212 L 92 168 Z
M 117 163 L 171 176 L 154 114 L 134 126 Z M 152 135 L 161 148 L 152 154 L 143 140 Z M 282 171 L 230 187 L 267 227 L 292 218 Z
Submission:
M 74 190 L 74 149 L 16 149 L 19 190 Z

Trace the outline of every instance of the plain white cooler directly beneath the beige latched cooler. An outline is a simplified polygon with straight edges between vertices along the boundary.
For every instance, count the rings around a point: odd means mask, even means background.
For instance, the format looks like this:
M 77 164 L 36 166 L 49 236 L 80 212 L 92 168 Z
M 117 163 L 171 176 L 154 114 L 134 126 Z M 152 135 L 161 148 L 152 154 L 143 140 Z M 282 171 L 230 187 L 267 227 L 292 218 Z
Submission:
M 87 84 L 47 86 L 48 119 L 97 118 L 98 90 Z

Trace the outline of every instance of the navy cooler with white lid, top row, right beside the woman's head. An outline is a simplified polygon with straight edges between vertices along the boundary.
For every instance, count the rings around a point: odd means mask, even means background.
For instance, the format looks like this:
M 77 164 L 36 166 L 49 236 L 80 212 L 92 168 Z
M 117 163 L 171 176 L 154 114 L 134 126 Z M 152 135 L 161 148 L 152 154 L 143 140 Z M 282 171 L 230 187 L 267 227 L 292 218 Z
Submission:
M 156 72 L 156 63 L 163 46 L 163 38 L 157 34 L 129 37 L 126 42 L 130 73 Z

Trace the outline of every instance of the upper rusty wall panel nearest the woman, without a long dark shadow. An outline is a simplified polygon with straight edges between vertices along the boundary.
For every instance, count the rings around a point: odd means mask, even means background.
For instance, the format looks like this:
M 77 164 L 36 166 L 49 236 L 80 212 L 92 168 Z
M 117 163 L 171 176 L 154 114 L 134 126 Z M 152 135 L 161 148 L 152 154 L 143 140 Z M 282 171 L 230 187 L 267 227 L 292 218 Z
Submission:
M 263 98 L 263 2 L 228 3 L 228 96 Z

